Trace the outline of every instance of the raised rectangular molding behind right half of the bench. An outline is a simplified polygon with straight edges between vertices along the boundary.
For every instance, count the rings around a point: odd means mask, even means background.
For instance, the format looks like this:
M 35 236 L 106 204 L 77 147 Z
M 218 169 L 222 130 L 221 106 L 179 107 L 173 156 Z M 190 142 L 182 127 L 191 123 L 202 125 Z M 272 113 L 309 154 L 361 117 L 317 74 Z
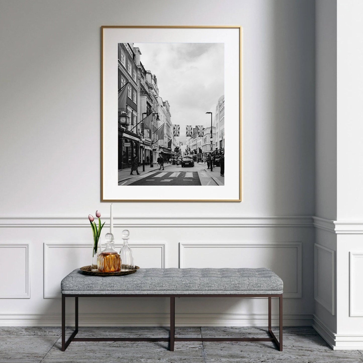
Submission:
M 302 242 L 180 242 L 179 243 L 179 268 L 184 268 L 185 248 L 296 248 L 297 249 L 297 291 L 284 292 L 284 298 L 302 297 Z

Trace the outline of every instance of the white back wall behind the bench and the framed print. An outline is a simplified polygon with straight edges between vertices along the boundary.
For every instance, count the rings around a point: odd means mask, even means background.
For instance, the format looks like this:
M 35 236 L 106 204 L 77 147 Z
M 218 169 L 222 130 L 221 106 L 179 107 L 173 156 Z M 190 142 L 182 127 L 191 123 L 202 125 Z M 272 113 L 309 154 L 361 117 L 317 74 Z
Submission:
M 100 26 L 237 24 L 244 28 L 244 201 L 115 203 L 115 237 L 119 240 L 122 229 L 130 228 L 131 242 L 138 244 L 136 262 L 143 267 L 178 267 L 179 243 L 200 241 L 213 246 L 195 247 L 197 253 L 185 263 L 197 265 L 203 257 L 216 266 L 221 251 L 221 265 L 271 266 L 284 274 L 290 294 L 284 302 L 285 323 L 310 325 L 314 2 L 34 0 L 3 1 L 0 7 L 0 243 L 28 245 L 17 262 L 22 285 L 15 287 L 9 278 L 0 285 L 0 295 L 18 294 L 0 299 L 0 324 L 60 324 L 60 300 L 54 298 L 60 279 L 89 264 L 90 251 L 82 247 L 91 240 L 87 215 L 96 209 L 109 213 L 109 205 L 100 202 L 98 171 Z M 196 218 L 183 219 L 191 216 Z M 272 218 L 261 218 L 265 216 Z M 223 247 L 228 243 L 237 243 L 239 257 Z M 7 252 L 0 253 L 1 265 L 8 266 L 9 256 L 21 247 L 1 247 Z M 267 305 L 260 300 L 216 301 L 207 315 L 202 303 L 192 322 L 188 314 L 196 303 L 178 304 L 180 324 L 266 322 Z M 80 309 L 86 313 L 82 324 L 100 323 L 102 301 L 82 303 Z M 118 315 L 121 325 L 161 324 L 167 323 L 168 305 L 165 300 L 134 301 L 122 309 L 115 303 L 110 311 L 124 314 Z

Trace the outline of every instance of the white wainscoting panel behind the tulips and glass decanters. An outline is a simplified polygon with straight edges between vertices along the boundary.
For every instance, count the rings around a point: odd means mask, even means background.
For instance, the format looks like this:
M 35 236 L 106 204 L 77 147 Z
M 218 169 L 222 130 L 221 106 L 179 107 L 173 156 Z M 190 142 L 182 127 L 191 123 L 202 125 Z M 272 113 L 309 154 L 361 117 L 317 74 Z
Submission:
M 115 244 L 119 251 L 122 244 Z M 105 245 L 103 244 L 102 248 Z M 143 268 L 164 268 L 165 244 L 130 244 L 134 260 Z M 44 243 L 44 298 L 61 297 L 61 281 L 68 273 L 81 266 L 91 264 L 92 248 L 88 243 Z M 66 261 L 66 262 L 65 262 Z

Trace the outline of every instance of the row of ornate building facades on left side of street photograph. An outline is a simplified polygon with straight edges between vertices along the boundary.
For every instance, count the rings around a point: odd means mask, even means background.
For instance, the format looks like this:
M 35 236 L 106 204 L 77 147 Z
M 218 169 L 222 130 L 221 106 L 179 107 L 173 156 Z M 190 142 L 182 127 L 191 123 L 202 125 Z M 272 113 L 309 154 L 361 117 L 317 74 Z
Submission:
M 131 166 L 133 158 L 138 164 L 152 164 L 159 152 L 172 153 L 176 143 L 172 137 L 170 105 L 159 97 L 155 74 L 145 69 L 142 53 L 133 43 L 118 44 L 118 88 L 126 87 L 126 107 L 119 109 L 118 117 L 118 169 Z M 152 115 L 152 130 L 145 129 L 143 119 Z M 164 125 L 163 138 L 158 140 L 156 131 Z M 168 148 L 168 141 L 172 146 Z

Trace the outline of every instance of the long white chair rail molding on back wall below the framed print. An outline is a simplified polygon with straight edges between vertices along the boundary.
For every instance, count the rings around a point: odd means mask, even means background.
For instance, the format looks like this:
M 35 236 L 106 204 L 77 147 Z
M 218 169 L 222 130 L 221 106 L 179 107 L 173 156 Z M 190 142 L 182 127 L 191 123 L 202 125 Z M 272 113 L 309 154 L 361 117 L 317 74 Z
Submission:
M 109 218 L 103 218 L 109 225 Z M 0 227 L 87 227 L 82 217 L 0 217 Z M 313 227 L 311 216 L 114 217 L 114 227 Z

